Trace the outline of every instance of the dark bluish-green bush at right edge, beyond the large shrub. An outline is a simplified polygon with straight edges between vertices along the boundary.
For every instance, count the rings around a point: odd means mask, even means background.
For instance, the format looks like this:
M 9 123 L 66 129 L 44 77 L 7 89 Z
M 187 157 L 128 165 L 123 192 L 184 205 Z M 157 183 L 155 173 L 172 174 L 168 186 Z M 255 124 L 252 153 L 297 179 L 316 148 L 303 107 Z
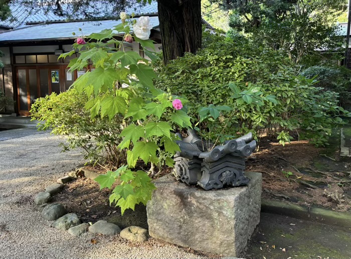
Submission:
M 339 66 L 313 66 L 301 72 L 306 78 L 315 78 L 315 86 L 339 93 L 340 105 L 351 100 L 351 70 Z

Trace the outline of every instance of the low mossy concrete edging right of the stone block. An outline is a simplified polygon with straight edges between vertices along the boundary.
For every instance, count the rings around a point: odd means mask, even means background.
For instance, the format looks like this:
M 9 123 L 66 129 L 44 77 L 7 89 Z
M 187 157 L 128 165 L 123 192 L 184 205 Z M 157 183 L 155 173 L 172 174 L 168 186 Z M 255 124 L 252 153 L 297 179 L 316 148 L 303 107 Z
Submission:
M 351 227 L 351 213 L 261 199 L 261 212 L 280 214 L 328 225 Z

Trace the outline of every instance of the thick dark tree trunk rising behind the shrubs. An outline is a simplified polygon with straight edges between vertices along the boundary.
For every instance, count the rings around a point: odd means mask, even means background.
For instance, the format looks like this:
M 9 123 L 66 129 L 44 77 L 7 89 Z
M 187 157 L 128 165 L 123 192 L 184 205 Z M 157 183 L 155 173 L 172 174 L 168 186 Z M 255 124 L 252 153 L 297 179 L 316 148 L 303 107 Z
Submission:
M 158 0 L 163 62 L 201 48 L 201 0 Z

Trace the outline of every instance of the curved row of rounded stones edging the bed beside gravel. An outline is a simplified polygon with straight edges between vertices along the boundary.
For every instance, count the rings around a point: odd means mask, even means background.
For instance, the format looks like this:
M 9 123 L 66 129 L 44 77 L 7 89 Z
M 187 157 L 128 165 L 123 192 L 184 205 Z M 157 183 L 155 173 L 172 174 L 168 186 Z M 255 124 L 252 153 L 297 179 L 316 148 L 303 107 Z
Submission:
M 52 224 L 53 227 L 61 230 L 66 230 L 72 236 L 79 237 L 80 235 L 86 232 L 105 234 L 105 235 L 119 234 L 121 232 L 121 229 L 116 224 L 106 222 L 105 220 L 98 220 L 94 224 L 92 224 L 91 222 L 89 223 L 81 222 L 81 220 L 74 212 L 67 212 L 65 207 L 61 203 L 59 202 L 49 203 L 55 194 L 60 193 L 62 191 L 66 183 L 71 182 L 79 177 L 85 177 L 85 178 L 94 180 L 99 175 L 100 175 L 99 173 L 93 170 L 89 170 L 84 166 L 78 166 L 75 171 L 69 172 L 66 176 L 57 179 L 56 183 L 46 186 L 44 188 L 45 191 L 39 192 L 34 197 L 34 203 L 35 203 L 34 209 L 41 213 L 42 218 L 47 219 L 48 221 L 54 221 Z M 50 210 L 52 207 L 57 209 L 57 211 L 53 211 L 53 213 L 51 213 L 48 216 L 47 211 Z M 130 227 L 137 227 L 137 226 L 129 226 L 129 227 L 126 227 L 125 229 L 129 229 Z M 145 230 L 145 232 L 147 232 L 147 234 L 145 235 L 145 237 L 147 238 L 143 238 L 143 240 L 140 240 L 140 241 L 132 238 L 129 239 L 126 237 L 122 237 L 122 238 L 127 239 L 129 241 L 138 241 L 138 242 L 147 241 L 149 237 L 148 230 L 141 227 L 138 227 L 138 228 L 143 229 Z

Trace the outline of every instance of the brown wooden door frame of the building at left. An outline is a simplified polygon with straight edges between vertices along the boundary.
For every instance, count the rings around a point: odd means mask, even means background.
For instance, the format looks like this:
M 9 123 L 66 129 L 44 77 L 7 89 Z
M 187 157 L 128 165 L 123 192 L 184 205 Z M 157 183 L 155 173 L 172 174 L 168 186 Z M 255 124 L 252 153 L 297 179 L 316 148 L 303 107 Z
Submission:
M 65 69 L 67 68 L 67 64 L 62 64 L 62 65 L 31 65 L 31 66 L 16 66 L 16 86 L 17 86 L 17 107 L 18 107 L 18 112 L 20 115 L 23 116 L 30 116 L 30 110 L 31 110 L 31 94 L 30 94 L 30 88 L 29 88 L 29 70 L 30 69 L 35 69 L 37 71 L 37 96 L 40 97 L 40 70 L 41 69 L 48 69 L 48 87 L 49 87 L 49 95 L 52 93 L 51 89 L 51 70 L 58 70 L 59 71 L 59 84 L 60 84 L 60 92 L 65 91 L 65 82 L 66 82 L 66 76 L 65 76 Z M 28 111 L 21 110 L 21 103 L 20 103 L 20 82 L 19 82 L 19 75 L 18 71 L 19 70 L 26 70 L 26 87 L 27 87 L 27 103 L 28 103 Z M 76 73 L 75 73 L 76 74 Z M 76 79 L 76 76 L 75 76 Z

